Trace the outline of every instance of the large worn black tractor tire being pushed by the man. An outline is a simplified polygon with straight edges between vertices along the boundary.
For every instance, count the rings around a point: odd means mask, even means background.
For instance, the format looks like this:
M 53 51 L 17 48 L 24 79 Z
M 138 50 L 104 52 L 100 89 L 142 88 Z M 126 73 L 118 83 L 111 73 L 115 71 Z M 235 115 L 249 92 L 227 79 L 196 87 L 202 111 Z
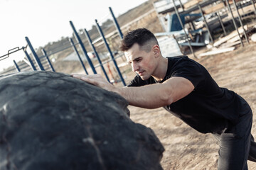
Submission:
M 0 169 L 162 169 L 164 147 L 127 104 L 68 74 L 1 76 Z

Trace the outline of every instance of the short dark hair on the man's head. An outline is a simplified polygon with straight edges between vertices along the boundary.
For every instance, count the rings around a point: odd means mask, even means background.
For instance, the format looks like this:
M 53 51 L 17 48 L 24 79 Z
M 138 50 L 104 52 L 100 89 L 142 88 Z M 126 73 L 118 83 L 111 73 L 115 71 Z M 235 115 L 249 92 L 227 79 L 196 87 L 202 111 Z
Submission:
M 150 43 L 151 42 L 151 43 Z M 127 51 L 137 43 L 145 51 L 151 50 L 151 45 L 159 45 L 156 37 L 146 28 L 132 30 L 121 41 L 120 50 Z

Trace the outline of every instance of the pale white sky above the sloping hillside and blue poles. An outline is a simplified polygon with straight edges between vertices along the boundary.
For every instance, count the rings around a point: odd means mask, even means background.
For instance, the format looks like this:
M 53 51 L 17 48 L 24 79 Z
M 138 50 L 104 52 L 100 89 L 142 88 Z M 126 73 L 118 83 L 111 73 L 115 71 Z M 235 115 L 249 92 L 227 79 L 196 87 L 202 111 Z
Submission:
M 147 0 L 0 0 L 0 56 L 15 47 L 25 47 L 28 37 L 33 48 L 48 42 L 70 37 L 73 33 L 69 21 L 76 30 L 90 30 L 95 19 L 102 23 L 114 16 L 139 6 Z M 13 60 L 25 57 L 20 50 L 0 61 L 0 71 L 13 64 Z

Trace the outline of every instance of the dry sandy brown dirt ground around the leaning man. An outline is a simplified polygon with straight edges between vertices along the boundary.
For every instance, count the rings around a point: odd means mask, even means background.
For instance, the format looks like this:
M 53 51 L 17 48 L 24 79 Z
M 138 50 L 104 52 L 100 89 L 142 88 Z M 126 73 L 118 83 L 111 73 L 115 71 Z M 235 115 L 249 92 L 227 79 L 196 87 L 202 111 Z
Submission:
M 194 60 L 208 69 L 219 86 L 247 100 L 254 114 L 252 135 L 256 137 L 256 43 L 251 41 L 250 45 L 245 43 L 245 47 L 237 47 L 233 52 Z M 164 108 L 149 110 L 129 106 L 129 110 L 131 119 L 154 130 L 164 145 L 161 159 L 164 169 L 217 169 L 218 143 L 212 135 L 193 130 Z M 249 161 L 248 166 L 250 170 L 256 169 L 254 162 Z

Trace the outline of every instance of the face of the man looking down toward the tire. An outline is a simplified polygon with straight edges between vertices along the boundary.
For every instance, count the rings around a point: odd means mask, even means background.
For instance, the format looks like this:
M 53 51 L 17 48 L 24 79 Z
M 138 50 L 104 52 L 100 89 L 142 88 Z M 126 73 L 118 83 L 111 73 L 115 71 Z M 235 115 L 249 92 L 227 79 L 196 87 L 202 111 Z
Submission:
M 127 62 L 131 64 L 132 71 L 137 72 L 143 79 L 149 79 L 156 69 L 156 57 L 154 51 L 151 49 L 149 52 L 139 48 L 135 43 L 129 50 L 124 52 Z

